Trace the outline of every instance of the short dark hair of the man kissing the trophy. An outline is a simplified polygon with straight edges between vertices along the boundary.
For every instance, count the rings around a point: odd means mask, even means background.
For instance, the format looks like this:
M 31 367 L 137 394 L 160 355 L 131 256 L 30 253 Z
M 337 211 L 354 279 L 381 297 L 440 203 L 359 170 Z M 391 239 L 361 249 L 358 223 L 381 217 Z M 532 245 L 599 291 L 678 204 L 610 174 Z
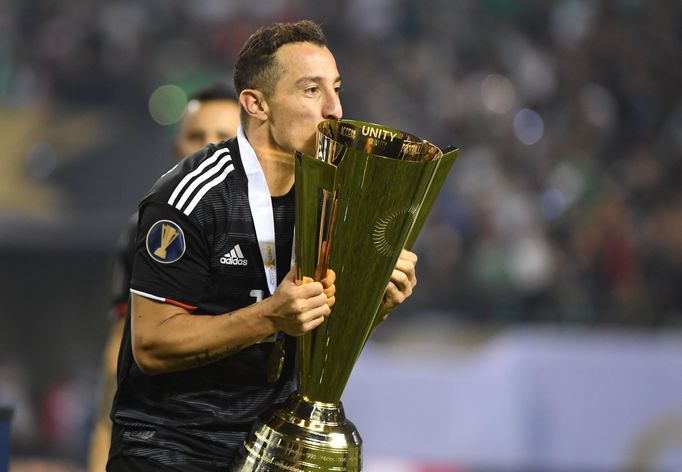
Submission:
M 272 94 L 282 72 L 275 53 L 285 44 L 302 42 L 326 46 L 327 38 L 320 26 L 310 20 L 275 23 L 259 28 L 246 40 L 237 57 L 234 67 L 234 89 L 237 95 L 245 89 Z

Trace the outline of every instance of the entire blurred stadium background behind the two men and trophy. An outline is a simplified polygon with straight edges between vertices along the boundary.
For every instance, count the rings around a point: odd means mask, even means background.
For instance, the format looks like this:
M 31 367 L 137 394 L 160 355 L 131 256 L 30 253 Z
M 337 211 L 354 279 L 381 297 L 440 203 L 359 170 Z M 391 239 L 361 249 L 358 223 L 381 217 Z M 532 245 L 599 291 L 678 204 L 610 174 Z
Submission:
M 462 149 L 346 392 L 367 470 L 680 467 L 682 4 L 642 0 L 1 1 L 15 463 L 83 464 L 114 242 L 186 94 L 306 17 L 345 117 Z

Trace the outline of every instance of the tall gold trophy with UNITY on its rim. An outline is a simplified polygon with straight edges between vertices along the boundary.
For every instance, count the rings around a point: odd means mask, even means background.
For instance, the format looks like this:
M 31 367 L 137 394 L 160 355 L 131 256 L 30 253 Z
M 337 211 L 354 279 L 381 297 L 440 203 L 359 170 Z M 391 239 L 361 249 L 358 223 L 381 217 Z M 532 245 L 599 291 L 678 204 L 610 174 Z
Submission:
M 443 153 L 372 123 L 327 120 L 316 157 L 296 153 L 297 277 L 336 272 L 336 303 L 297 339 L 298 388 L 254 425 L 238 471 L 360 471 L 360 435 L 341 394 L 373 328 L 402 248 L 410 248 L 458 150 Z

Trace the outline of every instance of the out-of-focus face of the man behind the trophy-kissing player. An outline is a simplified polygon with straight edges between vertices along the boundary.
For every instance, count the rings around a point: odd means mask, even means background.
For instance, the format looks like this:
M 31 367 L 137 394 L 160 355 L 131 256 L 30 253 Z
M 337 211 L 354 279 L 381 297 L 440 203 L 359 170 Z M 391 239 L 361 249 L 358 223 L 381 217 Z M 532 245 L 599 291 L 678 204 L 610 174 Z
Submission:
M 187 105 L 175 140 L 178 159 L 209 143 L 237 135 L 239 104 L 234 100 L 192 100 Z

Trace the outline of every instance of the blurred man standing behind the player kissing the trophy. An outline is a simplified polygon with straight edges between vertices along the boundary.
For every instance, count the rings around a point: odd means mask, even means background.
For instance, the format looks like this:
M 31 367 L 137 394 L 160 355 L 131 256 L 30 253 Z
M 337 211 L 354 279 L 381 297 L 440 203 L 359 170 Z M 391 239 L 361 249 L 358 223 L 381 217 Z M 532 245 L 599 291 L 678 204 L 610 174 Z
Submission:
M 239 103 L 226 84 L 215 83 L 196 91 L 190 97 L 182 115 L 173 151 L 177 160 L 209 143 L 218 143 L 237 134 Z M 104 384 L 100 411 L 90 439 L 88 470 L 103 472 L 106 467 L 111 442 L 109 411 L 116 392 L 116 362 L 123 335 L 124 318 L 128 313 L 130 277 L 135 255 L 137 212 L 131 217 L 119 238 L 115 269 L 112 276 L 112 326 L 104 348 Z

